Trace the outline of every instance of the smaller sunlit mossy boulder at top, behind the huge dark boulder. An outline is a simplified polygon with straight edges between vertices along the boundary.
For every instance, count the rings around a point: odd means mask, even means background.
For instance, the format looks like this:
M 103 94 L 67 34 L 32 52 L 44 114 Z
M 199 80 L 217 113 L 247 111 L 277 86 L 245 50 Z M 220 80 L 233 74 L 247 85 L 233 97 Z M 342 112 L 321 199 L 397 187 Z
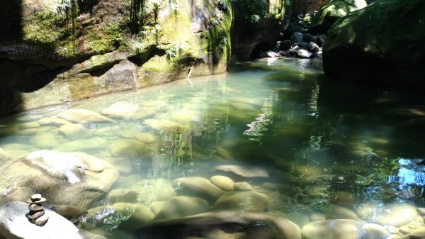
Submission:
M 331 0 L 312 18 L 310 33 L 327 33 L 339 18 L 368 6 L 365 0 Z

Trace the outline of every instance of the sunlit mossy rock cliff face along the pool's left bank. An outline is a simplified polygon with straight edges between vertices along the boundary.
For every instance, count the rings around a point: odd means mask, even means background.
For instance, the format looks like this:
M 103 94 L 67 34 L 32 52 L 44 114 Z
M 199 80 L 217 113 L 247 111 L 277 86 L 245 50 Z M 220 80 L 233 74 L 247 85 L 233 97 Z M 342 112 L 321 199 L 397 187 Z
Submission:
M 0 114 L 225 72 L 232 11 L 220 3 L 1 4 Z

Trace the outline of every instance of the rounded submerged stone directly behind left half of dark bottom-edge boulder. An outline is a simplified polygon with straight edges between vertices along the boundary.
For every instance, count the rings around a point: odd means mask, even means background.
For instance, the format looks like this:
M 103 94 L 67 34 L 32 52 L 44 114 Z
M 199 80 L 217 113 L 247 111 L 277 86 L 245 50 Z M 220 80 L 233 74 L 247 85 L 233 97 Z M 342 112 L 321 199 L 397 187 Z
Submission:
M 175 196 L 164 202 L 162 209 L 157 213 L 154 220 L 159 221 L 196 215 L 205 213 L 208 209 L 210 209 L 210 206 L 204 199 L 193 196 Z

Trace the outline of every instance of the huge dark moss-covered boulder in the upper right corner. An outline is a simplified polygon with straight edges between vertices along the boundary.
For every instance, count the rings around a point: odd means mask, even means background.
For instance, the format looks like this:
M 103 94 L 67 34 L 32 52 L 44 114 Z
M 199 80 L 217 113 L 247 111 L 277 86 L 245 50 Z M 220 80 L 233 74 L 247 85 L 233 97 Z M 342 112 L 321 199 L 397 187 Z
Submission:
M 376 1 L 329 30 L 323 49 L 330 77 L 424 85 L 425 1 Z

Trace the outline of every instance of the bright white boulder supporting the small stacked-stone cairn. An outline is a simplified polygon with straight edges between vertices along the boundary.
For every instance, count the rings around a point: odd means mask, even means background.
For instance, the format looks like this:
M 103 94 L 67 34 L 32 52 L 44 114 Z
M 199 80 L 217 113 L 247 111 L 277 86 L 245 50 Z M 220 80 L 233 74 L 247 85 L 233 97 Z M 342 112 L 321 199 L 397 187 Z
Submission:
M 36 226 L 26 217 L 28 204 L 13 201 L 0 207 L 0 238 L 7 239 L 83 239 L 79 229 L 66 218 L 45 209 L 49 221 Z

